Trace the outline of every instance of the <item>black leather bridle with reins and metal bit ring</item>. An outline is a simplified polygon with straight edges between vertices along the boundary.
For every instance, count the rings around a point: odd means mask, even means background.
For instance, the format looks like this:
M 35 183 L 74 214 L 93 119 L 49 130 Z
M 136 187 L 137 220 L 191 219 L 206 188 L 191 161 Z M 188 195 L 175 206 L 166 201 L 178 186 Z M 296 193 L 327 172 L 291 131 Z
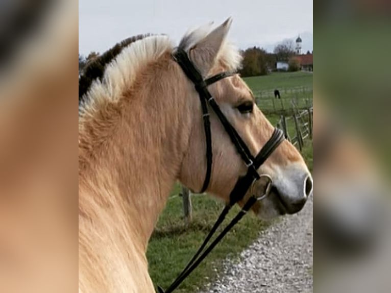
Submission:
M 271 188 L 272 179 L 270 178 L 270 176 L 265 174 L 259 175 L 257 169 L 266 161 L 266 159 L 277 149 L 278 145 L 285 139 L 284 133 L 280 129 L 275 128 L 271 138 L 265 143 L 265 145 L 263 145 L 262 149 L 254 157 L 251 154 L 246 143 L 243 142 L 243 140 L 241 139 L 241 137 L 239 136 L 235 128 L 229 123 L 228 119 L 223 114 L 216 101 L 213 99 L 213 96 L 208 91 L 209 85 L 219 80 L 222 80 L 224 78 L 233 76 L 236 74 L 236 72 L 225 71 L 204 80 L 200 71 L 190 61 L 187 53 L 182 48 L 177 48 L 177 50 L 173 54 L 173 59 L 182 68 L 187 78 L 194 84 L 195 90 L 197 90 L 200 97 L 202 116 L 204 120 L 204 129 L 205 129 L 205 138 L 206 138 L 206 160 L 207 160 L 205 180 L 200 192 L 204 192 L 208 188 L 210 182 L 211 170 L 212 170 L 212 136 L 210 130 L 210 119 L 209 119 L 210 114 L 208 111 L 207 104 L 209 104 L 209 106 L 212 108 L 214 113 L 217 115 L 224 129 L 228 133 L 232 143 L 235 145 L 235 148 L 239 153 L 241 159 L 246 164 L 247 173 L 245 176 L 239 177 L 239 179 L 237 180 L 234 188 L 230 193 L 229 203 L 225 206 L 224 210 L 219 215 L 216 223 L 213 225 L 209 234 L 206 236 L 199 250 L 194 254 L 192 259 L 184 268 L 184 270 L 181 272 L 181 274 L 179 274 L 179 276 L 175 279 L 175 281 L 167 288 L 167 290 L 164 291 L 161 287 L 158 286 L 159 293 L 170 293 L 175 288 L 177 288 L 183 282 L 183 280 L 194 270 L 194 268 L 197 267 L 201 263 L 201 261 L 210 253 L 210 251 L 212 251 L 212 249 L 217 245 L 217 243 L 221 239 L 223 239 L 225 234 L 227 234 L 227 232 L 234 225 L 236 225 L 236 223 L 238 223 L 239 220 L 250 210 L 250 208 L 257 201 L 261 201 L 265 197 L 267 197 Z M 219 235 L 217 235 L 217 237 L 209 245 L 209 247 L 205 249 L 206 245 L 208 244 L 210 238 L 213 236 L 214 232 L 217 230 L 220 224 L 223 223 L 231 207 L 234 204 L 236 204 L 238 201 L 242 200 L 243 197 L 245 197 L 246 192 L 253 185 L 253 183 L 261 178 L 266 178 L 268 180 L 264 194 L 262 194 L 259 197 L 256 197 L 254 195 L 251 196 L 250 199 L 242 207 L 240 212 L 227 225 L 227 227 Z M 203 254 L 201 254 L 202 252 Z

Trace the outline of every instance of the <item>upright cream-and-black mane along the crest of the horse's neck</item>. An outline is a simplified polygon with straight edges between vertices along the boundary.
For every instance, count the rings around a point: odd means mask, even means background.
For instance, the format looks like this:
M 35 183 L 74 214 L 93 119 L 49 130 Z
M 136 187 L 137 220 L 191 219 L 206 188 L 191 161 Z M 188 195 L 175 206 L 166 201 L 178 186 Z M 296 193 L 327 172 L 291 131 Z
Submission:
M 172 48 L 165 35 L 138 35 L 87 64 L 79 78 L 79 116 L 91 115 L 101 103 L 118 101 L 142 66 Z

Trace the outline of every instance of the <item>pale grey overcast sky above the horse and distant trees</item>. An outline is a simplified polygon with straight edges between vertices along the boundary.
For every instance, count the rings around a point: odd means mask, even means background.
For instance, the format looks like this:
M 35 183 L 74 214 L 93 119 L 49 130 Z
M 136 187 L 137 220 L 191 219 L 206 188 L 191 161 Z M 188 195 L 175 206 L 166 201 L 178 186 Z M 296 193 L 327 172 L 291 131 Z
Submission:
M 167 34 L 178 43 L 183 34 L 229 16 L 229 39 L 239 48 L 272 51 L 284 39 L 303 39 L 312 51 L 312 0 L 79 0 L 79 53 L 103 53 L 138 34 Z

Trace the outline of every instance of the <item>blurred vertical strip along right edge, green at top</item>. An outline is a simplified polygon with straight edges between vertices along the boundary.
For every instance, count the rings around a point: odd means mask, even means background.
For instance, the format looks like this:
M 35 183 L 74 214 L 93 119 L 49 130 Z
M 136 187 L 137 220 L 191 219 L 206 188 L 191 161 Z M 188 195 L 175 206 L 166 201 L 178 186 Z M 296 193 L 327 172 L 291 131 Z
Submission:
M 389 2 L 314 3 L 315 292 L 390 292 Z

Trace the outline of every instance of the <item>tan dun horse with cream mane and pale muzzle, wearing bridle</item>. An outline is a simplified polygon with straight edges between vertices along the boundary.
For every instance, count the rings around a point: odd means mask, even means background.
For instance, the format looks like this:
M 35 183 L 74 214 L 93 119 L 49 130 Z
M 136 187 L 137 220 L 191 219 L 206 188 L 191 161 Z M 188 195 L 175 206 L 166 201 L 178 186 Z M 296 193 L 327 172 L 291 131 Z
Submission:
M 239 51 L 227 40 L 231 21 L 190 31 L 179 43 L 204 78 L 240 66 Z M 122 45 L 88 82 L 79 106 L 82 293 L 155 292 L 145 252 L 159 214 L 177 180 L 200 190 L 207 168 L 200 97 L 173 59 L 178 48 L 166 35 Z M 256 106 L 250 88 L 232 75 L 208 90 L 256 154 L 274 127 Z M 216 113 L 208 115 L 213 164 L 206 191 L 228 202 L 247 168 Z M 299 212 L 312 193 L 309 170 L 287 140 L 258 172 L 273 180 L 268 197 L 252 207 L 261 218 Z M 264 189 L 265 182 L 253 183 L 239 206 Z

